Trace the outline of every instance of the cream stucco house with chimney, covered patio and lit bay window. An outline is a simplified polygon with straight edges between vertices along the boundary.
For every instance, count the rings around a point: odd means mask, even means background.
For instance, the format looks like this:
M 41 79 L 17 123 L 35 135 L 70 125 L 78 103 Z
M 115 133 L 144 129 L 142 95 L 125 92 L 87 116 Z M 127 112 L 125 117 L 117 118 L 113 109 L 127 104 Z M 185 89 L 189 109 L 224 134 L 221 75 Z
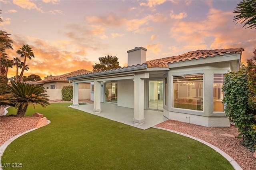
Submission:
M 68 77 L 73 81 L 73 106 L 80 83 L 94 85 L 94 112 L 101 102 L 134 108 L 133 122 L 144 123 L 144 109 L 163 111 L 168 119 L 206 127 L 229 127 L 224 112 L 224 74 L 237 71 L 243 48 L 196 50 L 146 61 L 147 49 L 127 51 L 128 67 Z M 118 87 L 118 88 L 117 88 Z

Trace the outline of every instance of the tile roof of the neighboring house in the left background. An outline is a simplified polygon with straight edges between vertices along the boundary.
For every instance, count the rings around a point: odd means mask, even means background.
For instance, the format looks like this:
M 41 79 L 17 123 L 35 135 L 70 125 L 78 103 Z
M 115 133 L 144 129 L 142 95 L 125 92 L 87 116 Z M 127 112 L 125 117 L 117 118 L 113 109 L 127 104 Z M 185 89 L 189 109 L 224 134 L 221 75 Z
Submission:
M 48 78 L 48 79 L 44 79 L 44 80 L 40 80 L 37 82 L 44 82 L 44 81 L 50 81 L 50 80 L 54 80 L 54 81 L 68 81 L 68 77 L 74 77 L 74 76 L 79 76 L 79 75 L 84 75 L 84 74 L 88 74 L 88 73 L 92 73 L 92 71 L 88 71 L 86 69 L 80 69 L 77 71 L 72 71 L 70 73 L 66 73 L 66 74 L 62 74 L 62 75 L 57 75 L 57 76 L 53 76 L 52 78 Z

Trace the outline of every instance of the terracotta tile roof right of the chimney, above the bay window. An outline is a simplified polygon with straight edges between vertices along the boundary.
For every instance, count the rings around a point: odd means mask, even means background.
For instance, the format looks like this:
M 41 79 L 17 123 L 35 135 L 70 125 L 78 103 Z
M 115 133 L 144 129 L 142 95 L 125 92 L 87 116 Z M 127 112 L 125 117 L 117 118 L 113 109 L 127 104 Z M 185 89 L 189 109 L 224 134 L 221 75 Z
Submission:
M 242 55 L 243 48 L 229 48 L 229 49 L 213 49 L 213 50 L 196 50 L 190 51 L 188 53 L 184 53 L 182 55 L 166 57 L 161 59 L 154 59 L 150 61 L 146 61 L 148 68 L 151 67 L 167 67 L 169 63 L 199 59 L 199 58 L 207 58 L 207 57 L 215 57 L 216 55 L 225 55 L 225 54 L 240 54 Z

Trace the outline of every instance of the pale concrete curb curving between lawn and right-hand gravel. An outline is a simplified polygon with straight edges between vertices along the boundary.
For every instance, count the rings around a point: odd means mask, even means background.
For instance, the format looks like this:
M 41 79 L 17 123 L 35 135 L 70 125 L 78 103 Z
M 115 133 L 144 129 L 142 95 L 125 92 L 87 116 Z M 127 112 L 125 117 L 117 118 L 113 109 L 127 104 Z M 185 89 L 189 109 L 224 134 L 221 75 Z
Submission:
M 230 164 L 234 167 L 235 170 L 243 170 L 241 168 L 241 166 L 231 157 L 229 156 L 228 154 L 226 154 L 224 151 L 222 151 L 220 148 L 204 141 L 204 140 L 201 140 L 199 138 L 196 138 L 194 136 L 190 136 L 188 134 L 184 134 L 184 133 L 181 133 L 181 132 L 177 132 L 177 131 L 174 131 L 174 130 L 170 130 L 170 129 L 167 129 L 167 128 L 161 128 L 161 127 L 156 127 L 154 126 L 153 128 L 158 128 L 158 129 L 162 129 L 162 130 L 167 130 L 167 131 L 170 131 L 170 132 L 174 132 L 176 134 L 180 134 L 182 136 L 186 136 L 186 137 L 189 137 L 189 138 L 192 138 L 194 140 L 197 140 L 198 142 L 201 142 L 202 144 L 206 144 L 207 146 L 209 146 L 210 148 L 214 149 L 216 152 L 218 152 L 219 154 L 221 154 L 224 158 L 226 158 L 226 160 L 228 160 L 230 162 Z

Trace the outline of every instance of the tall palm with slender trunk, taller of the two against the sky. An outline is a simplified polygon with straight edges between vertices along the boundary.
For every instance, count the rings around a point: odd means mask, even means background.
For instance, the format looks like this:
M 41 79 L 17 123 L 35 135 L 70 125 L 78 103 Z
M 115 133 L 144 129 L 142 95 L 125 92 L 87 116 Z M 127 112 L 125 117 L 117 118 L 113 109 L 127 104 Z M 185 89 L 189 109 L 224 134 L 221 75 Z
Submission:
M 17 52 L 17 54 L 20 55 L 20 57 L 24 57 L 24 64 L 23 64 L 23 67 L 22 67 L 22 69 L 21 69 L 20 78 L 19 78 L 19 82 L 21 82 L 21 81 L 22 81 L 22 77 L 23 77 L 24 70 L 26 69 L 26 68 L 25 68 L 25 66 L 26 66 L 26 58 L 32 59 L 32 57 L 35 58 L 35 56 L 34 56 L 32 47 L 30 47 L 28 44 L 27 44 L 27 45 L 23 45 L 23 46 L 22 46 L 20 49 L 18 49 L 16 52 Z

